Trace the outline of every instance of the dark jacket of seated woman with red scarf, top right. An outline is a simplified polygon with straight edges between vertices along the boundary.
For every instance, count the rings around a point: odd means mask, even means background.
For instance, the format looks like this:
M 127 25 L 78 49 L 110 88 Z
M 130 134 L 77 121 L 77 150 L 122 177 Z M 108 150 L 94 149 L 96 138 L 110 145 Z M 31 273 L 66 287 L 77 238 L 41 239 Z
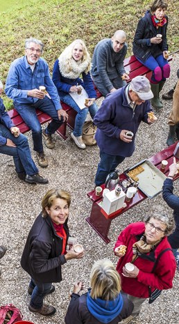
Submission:
M 133 41 L 133 53 L 141 61 L 145 62 L 151 55 L 157 57 L 161 55 L 163 51 L 168 49 L 168 17 L 166 15 L 164 17 L 167 19 L 167 24 L 164 24 L 164 26 L 161 26 L 158 29 L 153 26 L 150 10 L 147 10 L 144 17 L 139 20 Z M 152 44 L 151 38 L 157 36 L 157 33 L 162 34 L 162 42 L 160 44 Z

